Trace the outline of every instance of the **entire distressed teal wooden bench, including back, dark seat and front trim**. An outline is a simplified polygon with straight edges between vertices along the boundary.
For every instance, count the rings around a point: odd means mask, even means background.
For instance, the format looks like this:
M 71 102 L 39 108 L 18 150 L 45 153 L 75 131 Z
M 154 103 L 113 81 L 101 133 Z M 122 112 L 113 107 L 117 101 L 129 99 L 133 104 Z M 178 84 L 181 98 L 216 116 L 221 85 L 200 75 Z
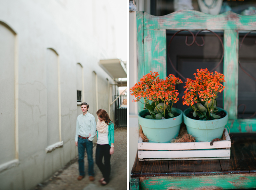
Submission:
M 234 12 L 208 15 L 198 11 L 177 11 L 165 16 L 137 12 L 138 78 L 149 71 L 167 75 L 166 30 L 222 30 L 223 74 L 226 87 L 223 107 L 233 133 L 229 160 L 139 161 L 131 171 L 130 189 L 244 189 L 256 188 L 256 119 L 238 119 L 238 31 L 256 30 L 256 15 Z M 200 69 L 200 68 L 198 68 Z M 139 111 L 143 104 L 139 105 Z M 255 108 L 256 110 L 256 108 Z M 247 132 L 239 134 L 241 132 Z M 248 132 L 252 132 L 248 134 Z M 233 138 L 233 139 L 232 139 Z

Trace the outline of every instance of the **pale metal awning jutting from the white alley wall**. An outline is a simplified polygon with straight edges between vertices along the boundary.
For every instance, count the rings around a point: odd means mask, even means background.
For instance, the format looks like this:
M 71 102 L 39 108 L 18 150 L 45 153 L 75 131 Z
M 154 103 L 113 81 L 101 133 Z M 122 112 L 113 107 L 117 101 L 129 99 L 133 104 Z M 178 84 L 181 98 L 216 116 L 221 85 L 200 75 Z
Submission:
M 113 78 L 127 78 L 127 71 L 121 59 L 100 60 L 100 66 Z

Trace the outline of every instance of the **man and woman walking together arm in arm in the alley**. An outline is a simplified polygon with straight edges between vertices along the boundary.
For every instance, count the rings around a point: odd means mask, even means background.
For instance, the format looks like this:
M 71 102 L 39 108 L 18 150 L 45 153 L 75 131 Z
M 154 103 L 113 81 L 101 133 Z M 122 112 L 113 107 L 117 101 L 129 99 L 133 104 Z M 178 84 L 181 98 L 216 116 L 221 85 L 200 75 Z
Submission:
M 92 140 L 97 133 L 97 148 L 96 148 L 96 164 L 98 165 L 103 178 L 99 180 L 101 185 L 106 185 L 109 182 L 110 175 L 110 156 L 114 154 L 114 124 L 110 120 L 108 113 L 100 109 L 96 112 L 98 116 L 97 127 L 95 118 L 88 112 L 89 104 L 82 103 L 82 114 L 76 120 L 76 137 L 75 142 L 78 147 L 78 164 L 79 176 L 78 180 L 82 180 L 85 176 L 84 172 L 84 151 L 86 149 L 87 159 L 89 164 L 89 180 L 94 180 L 93 158 L 92 158 Z M 104 157 L 104 164 L 102 159 Z

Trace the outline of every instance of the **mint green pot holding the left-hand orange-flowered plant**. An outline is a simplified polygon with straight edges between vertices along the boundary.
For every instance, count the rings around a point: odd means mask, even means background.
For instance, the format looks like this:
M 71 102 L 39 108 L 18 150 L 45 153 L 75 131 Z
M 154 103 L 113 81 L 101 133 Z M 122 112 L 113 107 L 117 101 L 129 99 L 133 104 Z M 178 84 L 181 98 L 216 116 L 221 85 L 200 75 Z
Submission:
M 149 142 L 170 142 L 176 138 L 180 131 L 182 123 L 182 110 L 172 108 L 173 111 L 180 115 L 169 119 L 146 119 L 142 118 L 148 110 L 139 113 L 138 120 L 142 127 L 143 133 L 149 139 Z

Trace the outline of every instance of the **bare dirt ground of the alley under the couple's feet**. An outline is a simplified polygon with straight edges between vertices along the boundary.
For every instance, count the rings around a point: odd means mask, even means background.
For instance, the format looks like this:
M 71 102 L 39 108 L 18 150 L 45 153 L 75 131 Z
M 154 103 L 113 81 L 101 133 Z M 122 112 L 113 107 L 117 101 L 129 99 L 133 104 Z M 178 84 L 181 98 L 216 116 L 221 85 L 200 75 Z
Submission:
M 56 172 L 50 179 L 39 183 L 34 190 L 123 190 L 127 189 L 127 128 L 115 128 L 115 152 L 111 156 L 110 181 L 101 186 L 102 174 L 95 163 L 96 143 L 93 145 L 95 180 L 89 181 L 88 162 L 85 154 L 85 178 L 77 180 L 78 157 L 71 160 L 64 168 Z M 104 160 L 104 159 L 103 159 Z

